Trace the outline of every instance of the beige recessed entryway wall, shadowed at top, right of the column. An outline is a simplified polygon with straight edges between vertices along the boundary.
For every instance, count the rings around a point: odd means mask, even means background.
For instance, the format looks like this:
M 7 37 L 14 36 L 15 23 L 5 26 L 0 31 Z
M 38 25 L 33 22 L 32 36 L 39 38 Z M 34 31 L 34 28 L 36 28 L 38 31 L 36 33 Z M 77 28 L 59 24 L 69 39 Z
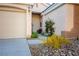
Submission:
M 32 14 L 32 25 L 33 25 L 33 31 L 37 32 L 37 30 L 40 28 L 40 21 L 41 16 L 40 14 Z

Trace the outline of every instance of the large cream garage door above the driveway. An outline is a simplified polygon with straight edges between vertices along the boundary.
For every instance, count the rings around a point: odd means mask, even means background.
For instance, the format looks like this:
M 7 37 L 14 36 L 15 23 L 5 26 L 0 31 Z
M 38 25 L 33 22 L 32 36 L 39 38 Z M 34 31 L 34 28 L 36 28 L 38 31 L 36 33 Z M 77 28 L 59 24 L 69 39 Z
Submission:
M 0 11 L 0 38 L 24 38 L 25 13 Z

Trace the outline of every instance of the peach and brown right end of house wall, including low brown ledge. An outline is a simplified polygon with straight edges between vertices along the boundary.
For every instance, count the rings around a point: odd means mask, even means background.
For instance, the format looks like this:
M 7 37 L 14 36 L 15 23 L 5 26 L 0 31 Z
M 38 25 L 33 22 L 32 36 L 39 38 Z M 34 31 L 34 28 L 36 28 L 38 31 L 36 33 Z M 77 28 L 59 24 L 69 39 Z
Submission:
M 65 31 L 64 34 L 65 34 L 65 37 L 74 38 L 79 36 L 79 26 L 78 26 L 79 25 L 79 5 L 71 4 L 68 6 L 69 6 L 69 12 L 68 12 L 69 18 L 67 21 L 67 28 L 66 28 L 67 31 Z

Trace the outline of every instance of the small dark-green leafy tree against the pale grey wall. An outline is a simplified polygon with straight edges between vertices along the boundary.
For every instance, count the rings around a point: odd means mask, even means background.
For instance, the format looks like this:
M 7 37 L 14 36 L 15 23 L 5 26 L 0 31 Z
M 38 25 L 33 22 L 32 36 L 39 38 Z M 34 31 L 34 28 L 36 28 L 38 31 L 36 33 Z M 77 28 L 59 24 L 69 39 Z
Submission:
M 51 36 L 52 34 L 54 34 L 54 22 L 51 21 L 51 19 L 48 19 L 48 21 L 45 22 L 45 31 L 46 33 L 48 33 L 49 36 Z

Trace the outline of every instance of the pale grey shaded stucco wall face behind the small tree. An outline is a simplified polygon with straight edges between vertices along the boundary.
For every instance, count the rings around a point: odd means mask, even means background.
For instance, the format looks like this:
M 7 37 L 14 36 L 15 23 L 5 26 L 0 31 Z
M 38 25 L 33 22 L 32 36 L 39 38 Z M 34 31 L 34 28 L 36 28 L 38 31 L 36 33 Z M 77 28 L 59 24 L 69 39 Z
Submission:
M 61 35 L 61 32 L 65 30 L 66 24 L 66 15 L 67 15 L 67 8 L 66 5 L 63 5 L 47 14 L 43 15 L 42 24 L 43 24 L 43 31 L 45 31 L 45 22 L 50 18 L 52 21 L 55 22 L 54 28 L 55 33 Z

